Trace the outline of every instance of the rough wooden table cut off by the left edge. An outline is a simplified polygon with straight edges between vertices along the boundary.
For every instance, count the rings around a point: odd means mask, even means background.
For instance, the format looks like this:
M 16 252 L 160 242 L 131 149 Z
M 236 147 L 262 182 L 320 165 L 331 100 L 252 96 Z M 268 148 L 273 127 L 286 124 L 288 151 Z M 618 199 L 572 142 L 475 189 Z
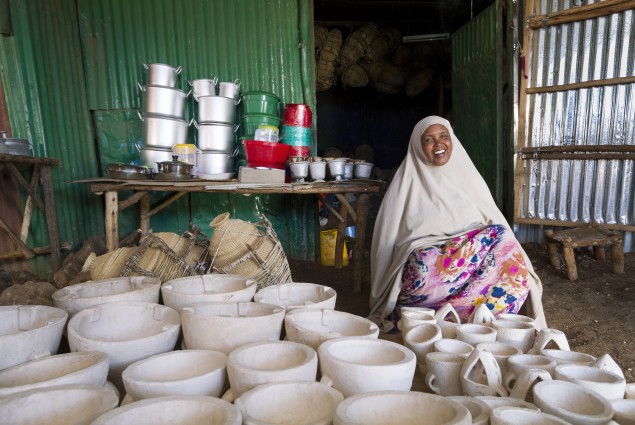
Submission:
M 51 270 L 57 271 L 61 263 L 60 236 L 55 212 L 55 194 L 51 167 L 59 165 L 56 158 L 37 158 L 22 155 L 0 154 L 0 169 L 5 168 L 13 176 L 18 186 L 27 194 L 24 213 L 22 214 L 22 226 L 20 235 L 16 235 L 7 224 L 0 219 L 0 228 L 7 232 L 9 238 L 16 245 L 17 250 L 0 254 L 0 260 L 11 258 L 30 259 L 38 254 L 51 254 Z M 31 182 L 27 182 L 21 173 L 23 168 L 33 168 Z M 38 186 L 41 184 L 43 198 L 38 194 Z M 29 226 L 35 205 L 46 218 L 46 226 L 49 235 L 49 246 L 29 248 L 26 240 L 29 234 Z

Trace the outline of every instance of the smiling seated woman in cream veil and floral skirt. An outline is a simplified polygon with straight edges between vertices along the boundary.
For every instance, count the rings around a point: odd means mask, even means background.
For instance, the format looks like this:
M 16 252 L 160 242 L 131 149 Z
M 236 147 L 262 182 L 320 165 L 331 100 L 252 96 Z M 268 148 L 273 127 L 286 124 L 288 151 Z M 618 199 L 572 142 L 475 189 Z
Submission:
M 391 330 L 404 306 L 450 303 L 465 322 L 482 303 L 495 316 L 524 304 L 542 328 L 541 296 L 527 254 L 450 123 L 421 120 L 377 215 L 370 318 Z

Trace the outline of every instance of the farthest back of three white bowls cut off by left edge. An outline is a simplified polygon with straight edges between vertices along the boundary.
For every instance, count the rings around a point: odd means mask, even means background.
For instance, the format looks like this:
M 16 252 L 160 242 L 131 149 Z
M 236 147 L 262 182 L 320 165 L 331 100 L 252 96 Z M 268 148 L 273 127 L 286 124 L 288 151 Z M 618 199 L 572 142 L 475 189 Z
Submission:
M 67 318 L 45 305 L 0 307 L 0 370 L 56 354 Z

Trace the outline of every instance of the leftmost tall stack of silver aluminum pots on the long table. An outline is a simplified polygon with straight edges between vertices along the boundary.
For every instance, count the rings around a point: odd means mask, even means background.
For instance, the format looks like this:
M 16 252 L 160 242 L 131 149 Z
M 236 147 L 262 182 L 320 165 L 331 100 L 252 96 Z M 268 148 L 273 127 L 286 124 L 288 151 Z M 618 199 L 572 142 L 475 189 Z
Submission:
M 157 162 L 172 160 L 174 145 L 187 143 L 190 123 L 184 115 L 190 93 L 176 87 L 180 66 L 143 66 L 147 71 L 146 85 L 138 84 L 142 98 L 139 118 L 143 121 L 141 163 L 156 172 Z

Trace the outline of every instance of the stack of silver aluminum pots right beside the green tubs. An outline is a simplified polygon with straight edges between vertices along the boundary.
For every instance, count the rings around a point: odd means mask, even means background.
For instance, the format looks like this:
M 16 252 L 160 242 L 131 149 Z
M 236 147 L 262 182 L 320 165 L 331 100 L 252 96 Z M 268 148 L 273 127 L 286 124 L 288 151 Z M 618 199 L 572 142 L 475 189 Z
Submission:
M 216 79 L 191 82 L 196 100 L 197 170 L 202 176 L 219 176 L 235 171 L 236 116 L 240 102 L 240 82 Z

